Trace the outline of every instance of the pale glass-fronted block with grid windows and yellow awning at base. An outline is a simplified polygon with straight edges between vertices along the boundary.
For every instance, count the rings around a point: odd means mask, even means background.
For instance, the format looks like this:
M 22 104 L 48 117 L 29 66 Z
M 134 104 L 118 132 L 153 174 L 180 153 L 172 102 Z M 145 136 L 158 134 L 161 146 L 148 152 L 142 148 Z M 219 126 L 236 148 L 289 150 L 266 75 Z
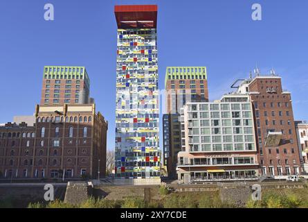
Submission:
M 182 152 L 178 178 L 240 180 L 258 175 L 253 107 L 248 96 L 229 94 L 221 101 L 186 103 L 181 109 Z

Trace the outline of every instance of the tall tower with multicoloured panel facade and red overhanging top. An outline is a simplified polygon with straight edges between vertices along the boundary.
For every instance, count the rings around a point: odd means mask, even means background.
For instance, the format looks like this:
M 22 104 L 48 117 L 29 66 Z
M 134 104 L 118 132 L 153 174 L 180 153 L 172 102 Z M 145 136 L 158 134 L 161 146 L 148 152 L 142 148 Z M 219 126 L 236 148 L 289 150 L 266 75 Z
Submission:
M 157 6 L 115 6 L 116 176 L 160 178 Z

